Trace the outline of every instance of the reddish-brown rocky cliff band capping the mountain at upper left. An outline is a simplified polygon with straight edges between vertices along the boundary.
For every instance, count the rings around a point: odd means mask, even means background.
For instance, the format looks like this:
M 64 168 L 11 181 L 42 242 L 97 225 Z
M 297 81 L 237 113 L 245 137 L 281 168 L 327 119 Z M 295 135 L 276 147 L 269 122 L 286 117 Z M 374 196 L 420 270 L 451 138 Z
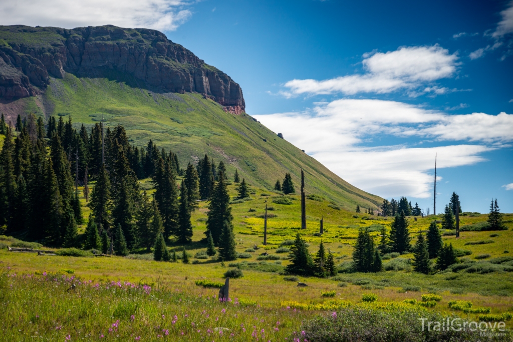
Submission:
M 155 30 L 107 25 L 72 30 L 0 26 L 0 98 L 42 93 L 49 76 L 127 73 L 153 89 L 198 92 L 233 114 L 244 112 L 241 87 L 224 72 Z

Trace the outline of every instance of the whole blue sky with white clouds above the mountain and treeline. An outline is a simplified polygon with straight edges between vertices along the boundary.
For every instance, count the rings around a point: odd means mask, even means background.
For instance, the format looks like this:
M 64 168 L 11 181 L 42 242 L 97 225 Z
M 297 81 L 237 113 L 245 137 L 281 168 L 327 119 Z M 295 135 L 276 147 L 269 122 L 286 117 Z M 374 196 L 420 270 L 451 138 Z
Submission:
M 452 191 L 465 211 L 497 197 L 513 212 L 513 2 L 6 4 L 3 25 L 165 32 L 238 82 L 248 114 L 363 190 L 432 213 L 436 153 L 437 212 Z

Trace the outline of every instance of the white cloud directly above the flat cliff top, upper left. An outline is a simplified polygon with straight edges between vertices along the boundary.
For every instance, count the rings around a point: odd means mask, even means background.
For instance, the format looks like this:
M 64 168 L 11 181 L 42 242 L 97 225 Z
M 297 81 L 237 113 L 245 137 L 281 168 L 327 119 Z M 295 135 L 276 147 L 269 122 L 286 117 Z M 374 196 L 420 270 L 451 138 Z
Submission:
M 0 2 L 0 24 L 75 28 L 111 24 L 175 30 L 191 16 L 183 0 L 16 0 Z

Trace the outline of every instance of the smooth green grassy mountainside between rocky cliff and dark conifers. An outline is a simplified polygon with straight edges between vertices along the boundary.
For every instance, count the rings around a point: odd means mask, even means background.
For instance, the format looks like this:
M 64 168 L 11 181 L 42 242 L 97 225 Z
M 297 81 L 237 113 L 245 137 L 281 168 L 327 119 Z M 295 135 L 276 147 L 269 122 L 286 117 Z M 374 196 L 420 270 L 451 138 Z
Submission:
M 225 113 L 199 94 L 160 94 L 132 87 L 134 79 L 117 76 L 109 80 L 67 74 L 52 79 L 44 98 L 26 99 L 26 108 L 42 112 L 36 106 L 44 103 L 47 114 L 69 113 L 75 124 L 89 126 L 104 112 L 107 125 L 123 125 L 132 144 L 145 146 L 153 139 L 176 152 L 182 165 L 207 153 L 216 162 L 224 160 L 230 178 L 237 168 L 247 182 L 267 189 L 286 172 L 291 172 L 298 188 L 304 169 L 307 194 L 321 194 L 346 209 L 357 203 L 376 208 L 382 200 L 351 186 L 248 115 Z

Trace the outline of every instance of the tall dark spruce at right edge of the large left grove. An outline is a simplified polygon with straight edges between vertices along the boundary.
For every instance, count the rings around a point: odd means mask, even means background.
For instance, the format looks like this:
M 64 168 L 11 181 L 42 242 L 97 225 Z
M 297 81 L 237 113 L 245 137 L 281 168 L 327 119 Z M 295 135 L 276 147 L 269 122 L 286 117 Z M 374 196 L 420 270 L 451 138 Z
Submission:
M 221 174 L 219 181 L 212 192 L 210 204 L 208 205 L 207 230 L 205 232 L 205 235 L 207 236 L 212 234 L 212 238 L 216 246 L 221 246 L 220 240 L 225 222 L 228 222 L 228 225 L 231 227 L 233 216 L 231 215 L 229 204 L 230 195 L 226 188 L 224 175 Z

